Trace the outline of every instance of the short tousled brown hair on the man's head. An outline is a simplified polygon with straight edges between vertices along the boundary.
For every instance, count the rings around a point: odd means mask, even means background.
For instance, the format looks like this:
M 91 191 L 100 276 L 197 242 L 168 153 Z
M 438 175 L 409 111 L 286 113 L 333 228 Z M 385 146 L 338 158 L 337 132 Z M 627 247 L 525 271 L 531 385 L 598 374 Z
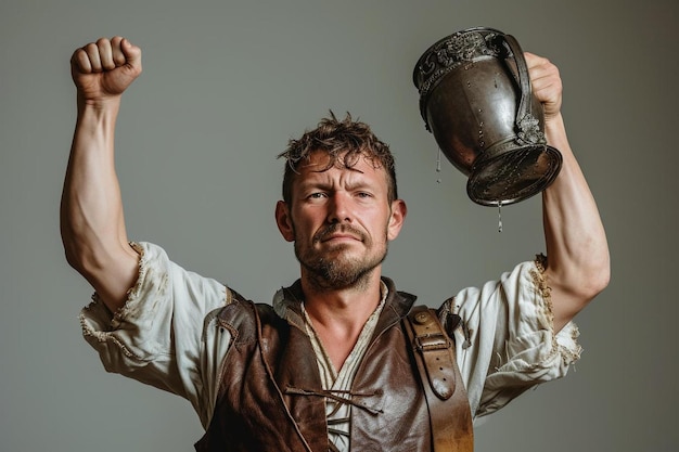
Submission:
M 321 119 L 316 129 L 307 130 L 298 139 L 291 139 L 287 148 L 279 154 L 285 158 L 285 173 L 283 175 L 283 201 L 292 201 L 292 184 L 300 162 L 308 162 L 311 153 L 325 152 L 330 159 L 323 171 L 342 165 L 353 168 L 359 158 L 368 158 L 375 168 L 384 168 L 387 175 L 388 202 L 398 198 L 396 188 L 396 166 L 389 146 L 377 139 L 366 122 L 354 120 L 349 113 L 343 120 L 338 120 L 331 111 L 330 117 Z M 342 159 L 342 160 L 341 160 Z

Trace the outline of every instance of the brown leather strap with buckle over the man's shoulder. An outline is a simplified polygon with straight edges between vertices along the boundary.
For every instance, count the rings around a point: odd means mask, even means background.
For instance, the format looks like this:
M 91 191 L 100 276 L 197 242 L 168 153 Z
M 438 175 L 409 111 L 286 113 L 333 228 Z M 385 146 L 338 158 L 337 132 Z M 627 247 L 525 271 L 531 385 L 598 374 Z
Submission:
M 472 413 L 458 369 L 454 344 L 444 331 L 436 311 L 413 307 L 406 331 L 430 410 L 434 452 L 472 452 Z

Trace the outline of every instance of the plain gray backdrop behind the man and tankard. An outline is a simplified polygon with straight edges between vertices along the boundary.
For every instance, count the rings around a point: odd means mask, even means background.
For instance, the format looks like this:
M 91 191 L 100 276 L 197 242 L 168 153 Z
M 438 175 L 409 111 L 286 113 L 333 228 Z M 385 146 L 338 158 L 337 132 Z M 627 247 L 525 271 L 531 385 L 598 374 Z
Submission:
M 605 222 L 610 287 L 578 318 L 567 378 L 477 429 L 478 451 L 671 451 L 676 389 L 678 3 L 606 1 L 0 2 L 0 450 L 188 451 L 190 405 L 106 374 L 80 338 L 91 289 L 57 207 L 75 120 L 68 59 L 120 34 L 143 49 L 117 165 L 128 232 L 268 301 L 298 272 L 273 206 L 289 138 L 329 108 L 373 125 L 409 217 L 385 273 L 435 305 L 543 249 L 539 199 L 472 204 L 423 127 L 411 70 L 471 26 L 554 61 L 564 116 Z

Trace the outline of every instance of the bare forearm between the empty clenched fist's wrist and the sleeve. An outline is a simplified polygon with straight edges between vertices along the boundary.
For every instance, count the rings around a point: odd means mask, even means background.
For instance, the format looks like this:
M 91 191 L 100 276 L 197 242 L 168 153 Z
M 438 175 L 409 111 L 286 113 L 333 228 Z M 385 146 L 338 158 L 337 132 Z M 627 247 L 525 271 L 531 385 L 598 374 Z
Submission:
M 138 261 L 128 245 L 115 172 L 119 99 L 78 104 L 61 205 L 62 240 L 68 262 L 115 310 L 134 282 Z

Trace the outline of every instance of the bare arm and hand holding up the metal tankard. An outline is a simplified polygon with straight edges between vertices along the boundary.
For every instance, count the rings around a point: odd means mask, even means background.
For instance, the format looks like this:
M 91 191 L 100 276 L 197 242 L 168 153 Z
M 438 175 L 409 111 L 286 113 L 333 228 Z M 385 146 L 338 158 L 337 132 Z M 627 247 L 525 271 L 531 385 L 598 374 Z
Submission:
M 571 150 L 561 116 L 562 82 L 549 60 L 526 53 L 534 95 L 545 107 L 548 143 L 563 166 L 542 193 L 547 268 L 554 331 L 559 332 L 608 284 L 608 245 L 599 210 Z

